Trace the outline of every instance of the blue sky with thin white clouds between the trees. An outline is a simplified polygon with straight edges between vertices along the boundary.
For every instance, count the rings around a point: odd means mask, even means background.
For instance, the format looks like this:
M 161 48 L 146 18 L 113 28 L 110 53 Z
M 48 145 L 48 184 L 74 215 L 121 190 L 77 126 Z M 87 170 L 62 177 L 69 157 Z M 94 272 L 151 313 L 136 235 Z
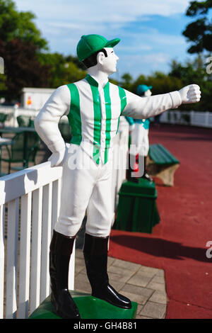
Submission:
M 81 35 L 98 33 L 121 38 L 114 48 L 121 79 L 129 72 L 168 72 L 171 60 L 189 57 L 182 31 L 191 18 L 184 15 L 189 0 L 16 0 L 18 11 L 32 11 L 51 52 L 76 55 Z

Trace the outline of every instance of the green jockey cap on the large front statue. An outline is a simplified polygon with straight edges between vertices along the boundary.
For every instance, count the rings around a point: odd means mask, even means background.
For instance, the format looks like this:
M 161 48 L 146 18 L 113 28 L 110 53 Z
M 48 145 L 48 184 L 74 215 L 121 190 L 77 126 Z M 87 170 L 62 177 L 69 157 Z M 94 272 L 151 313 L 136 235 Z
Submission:
M 114 45 L 117 45 L 119 41 L 119 38 L 107 40 L 101 35 L 83 35 L 76 47 L 78 60 L 86 60 L 86 58 L 101 50 L 103 47 L 114 47 Z

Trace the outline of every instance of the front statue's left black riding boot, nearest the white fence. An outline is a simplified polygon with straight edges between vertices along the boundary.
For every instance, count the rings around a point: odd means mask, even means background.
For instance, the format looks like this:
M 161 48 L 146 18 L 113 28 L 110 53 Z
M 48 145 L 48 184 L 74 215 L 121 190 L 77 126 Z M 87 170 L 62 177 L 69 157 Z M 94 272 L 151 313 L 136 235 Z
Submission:
M 75 237 L 66 237 L 53 231 L 49 253 L 49 274 L 51 281 L 51 301 L 57 315 L 63 319 L 80 319 L 76 304 L 68 288 L 69 261 Z

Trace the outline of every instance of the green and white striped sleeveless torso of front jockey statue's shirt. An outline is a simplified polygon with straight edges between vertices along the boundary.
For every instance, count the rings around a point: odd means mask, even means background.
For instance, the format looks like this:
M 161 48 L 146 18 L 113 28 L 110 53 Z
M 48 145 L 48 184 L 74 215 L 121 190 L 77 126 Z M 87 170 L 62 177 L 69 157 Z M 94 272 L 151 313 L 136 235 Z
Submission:
M 119 117 L 126 106 L 124 89 L 107 81 L 103 89 L 90 75 L 68 84 L 71 94 L 69 124 L 71 143 L 82 145 L 99 164 L 108 160 L 112 140 L 117 134 Z

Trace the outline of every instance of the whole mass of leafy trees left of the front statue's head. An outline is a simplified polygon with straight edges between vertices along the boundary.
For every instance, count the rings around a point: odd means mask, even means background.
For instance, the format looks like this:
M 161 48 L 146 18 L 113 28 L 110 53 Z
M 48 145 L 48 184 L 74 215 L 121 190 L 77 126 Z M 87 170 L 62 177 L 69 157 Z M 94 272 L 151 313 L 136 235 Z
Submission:
M 5 74 L 1 74 L 1 96 L 20 98 L 23 87 L 57 88 L 85 77 L 76 57 L 47 52 L 30 11 L 20 11 L 11 0 L 0 0 L 0 56 Z

